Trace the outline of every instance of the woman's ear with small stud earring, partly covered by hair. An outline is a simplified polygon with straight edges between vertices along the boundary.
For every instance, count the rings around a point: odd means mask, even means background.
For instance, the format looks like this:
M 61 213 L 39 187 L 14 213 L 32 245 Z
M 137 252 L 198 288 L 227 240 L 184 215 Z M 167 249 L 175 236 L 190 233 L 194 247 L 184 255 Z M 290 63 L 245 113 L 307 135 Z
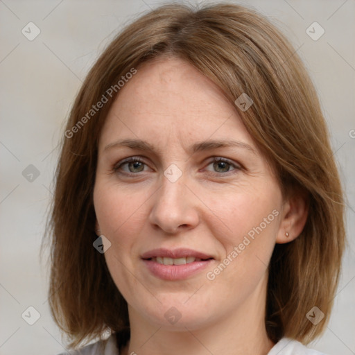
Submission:
M 288 243 L 299 236 L 306 224 L 309 203 L 306 193 L 295 191 L 284 202 L 276 243 Z

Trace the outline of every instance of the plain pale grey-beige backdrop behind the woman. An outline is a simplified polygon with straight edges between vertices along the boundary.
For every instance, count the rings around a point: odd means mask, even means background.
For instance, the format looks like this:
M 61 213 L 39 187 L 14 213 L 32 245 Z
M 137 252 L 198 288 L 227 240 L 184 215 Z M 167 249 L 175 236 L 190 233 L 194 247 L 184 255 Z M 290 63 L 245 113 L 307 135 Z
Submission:
M 355 1 L 234 2 L 281 28 L 318 89 L 347 195 L 349 245 L 329 326 L 311 346 L 329 355 L 355 354 Z M 161 3 L 0 0 L 1 355 L 64 352 L 47 302 L 49 268 L 39 257 L 58 141 L 99 53 L 125 24 Z M 324 29 L 318 40 L 306 33 L 311 24 Z M 38 316 L 35 324 L 26 322 Z

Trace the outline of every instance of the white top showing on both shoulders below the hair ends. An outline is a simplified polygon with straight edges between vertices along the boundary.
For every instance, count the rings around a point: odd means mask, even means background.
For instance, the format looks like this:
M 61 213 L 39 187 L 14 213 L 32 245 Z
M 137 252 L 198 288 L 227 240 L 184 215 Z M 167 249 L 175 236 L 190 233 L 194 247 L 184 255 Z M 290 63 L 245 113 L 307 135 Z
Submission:
M 116 348 L 116 340 L 114 336 L 110 336 L 107 340 L 105 347 L 105 352 L 102 354 L 100 352 L 100 342 L 94 343 L 92 345 L 87 345 L 83 349 L 77 350 L 76 352 L 71 352 L 72 355 L 119 355 L 119 351 Z M 59 354 L 65 355 L 65 353 Z M 275 344 L 274 347 L 268 352 L 268 355 L 325 355 L 322 352 L 317 352 L 316 350 L 309 349 L 299 343 L 296 340 L 282 338 L 279 343 Z

